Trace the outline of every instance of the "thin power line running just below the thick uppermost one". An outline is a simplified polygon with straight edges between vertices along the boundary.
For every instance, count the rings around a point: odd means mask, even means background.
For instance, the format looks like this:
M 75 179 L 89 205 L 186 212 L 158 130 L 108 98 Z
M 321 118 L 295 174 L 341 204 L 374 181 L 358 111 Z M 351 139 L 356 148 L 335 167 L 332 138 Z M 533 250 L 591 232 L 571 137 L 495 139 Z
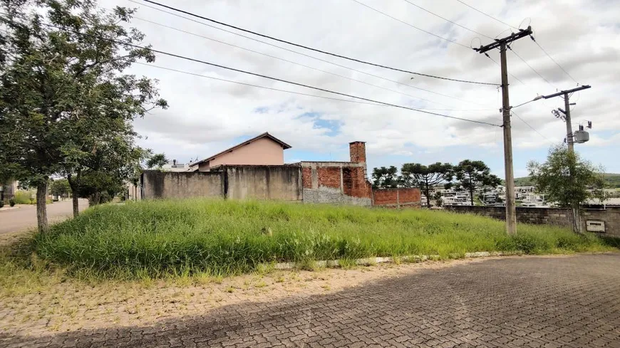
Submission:
M 139 4 L 137 1 L 134 1 L 134 0 L 128 0 L 128 1 L 133 2 L 133 3 L 135 3 L 135 4 Z M 172 15 L 172 16 L 176 16 L 176 17 L 179 17 L 179 18 L 182 18 L 182 19 L 186 19 L 187 21 L 192 21 L 192 22 L 194 22 L 194 23 L 198 23 L 198 24 L 201 24 L 201 25 L 203 25 L 203 26 L 208 26 L 208 27 L 210 27 L 210 28 L 214 28 L 214 29 L 217 29 L 217 30 L 219 30 L 219 31 L 224 31 L 224 32 L 226 32 L 226 33 L 231 33 L 231 34 L 233 34 L 233 35 L 240 36 L 240 37 L 242 37 L 242 38 L 247 38 L 247 39 L 252 40 L 252 41 L 256 41 L 256 42 L 259 42 L 259 43 L 264 43 L 265 45 L 269 45 L 269 46 L 272 46 L 272 47 L 275 47 L 275 48 L 279 48 L 279 49 L 284 50 L 284 51 L 288 51 L 288 52 L 291 52 L 291 53 L 295 53 L 295 54 L 297 54 L 297 55 L 299 55 L 299 56 L 304 56 L 304 57 L 311 58 L 311 59 L 314 59 L 314 60 L 319 60 L 319 61 L 321 61 L 321 62 L 328 63 L 328 64 L 331 64 L 331 65 L 334 65 L 334 66 L 338 66 L 338 67 L 340 67 L 340 68 L 345 68 L 345 69 L 348 69 L 348 70 L 355 71 L 356 73 L 361 73 L 361 74 L 363 74 L 363 75 L 372 76 L 373 78 L 380 78 L 381 80 L 386 80 L 386 81 L 389 81 L 389 82 L 391 82 L 391 83 L 396 83 L 397 85 L 403 85 L 403 86 L 405 86 L 405 87 L 415 88 L 416 90 L 423 90 L 423 91 L 428 92 L 428 93 L 431 93 L 431 94 L 440 95 L 440 96 L 442 96 L 442 97 L 448 97 L 448 98 L 450 98 L 450 99 L 459 100 L 459 101 L 461 101 L 461 102 L 470 102 L 470 103 L 472 103 L 472 104 L 482 105 L 482 104 L 480 104 L 480 103 L 478 103 L 478 102 L 472 102 L 472 101 L 470 101 L 470 100 L 461 99 L 461 98 L 459 98 L 459 97 L 453 97 L 453 96 L 451 96 L 451 95 L 445 95 L 445 94 L 443 94 L 443 93 L 434 92 L 434 91 L 432 91 L 432 90 L 427 90 L 427 89 L 425 89 L 425 88 L 417 87 L 417 86 L 414 86 L 414 85 L 408 85 L 408 84 L 406 84 L 406 83 L 401 83 L 401 82 L 399 82 L 399 81 L 397 81 L 397 80 L 391 80 L 390 78 L 383 78 L 382 76 L 375 75 L 375 74 L 372 74 L 372 73 L 366 73 L 366 72 L 365 72 L 365 71 L 363 71 L 363 70 L 358 70 L 358 69 L 355 69 L 355 68 L 350 68 L 350 67 L 348 67 L 348 66 L 346 66 L 346 65 L 341 65 L 341 64 L 339 64 L 339 63 L 334 63 L 334 62 L 331 62 L 331 61 L 329 61 L 329 60 L 325 60 L 325 59 L 321 59 L 321 58 L 316 58 L 316 57 L 314 57 L 314 56 L 310 56 L 310 55 L 308 55 L 308 54 L 306 54 L 306 53 L 301 53 L 301 52 L 293 51 L 293 50 L 291 50 L 291 49 L 289 49 L 289 48 L 285 48 L 285 47 L 277 46 L 277 45 L 274 45 L 273 43 L 269 43 L 269 42 L 267 42 L 267 41 L 261 41 L 261 40 L 259 40 L 259 39 L 257 39 L 257 38 L 252 38 L 251 36 L 245 36 L 245 35 L 240 34 L 240 33 L 235 33 L 234 31 L 229 31 L 229 30 L 224 29 L 224 28 L 219 28 L 219 27 L 217 27 L 217 26 L 212 26 L 212 25 L 207 24 L 207 23 L 202 22 L 202 21 L 197 21 L 197 20 L 195 20 L 195 19 L 190 19 L 190 18 L 187 18 L 187 17 L 185 17 L 185 16 L 180 16 L 179 14 L 175 14 L 175 13 L 172 13 L 172 12 L 170 12 L 170 11 L 165 11 L 165 10 L 163 10 L 163 9 L 158 9 L 157 7 L 154 7 L 154 6 L 145 5 L 145 4 L 140 4 L 140 6 L 145 6 L 145 7 L 148 7 L 149 9 L 154 9 L 155 11 L 160 11 L 160 12 L 163 12 L 163 13 L 165 13 L 165 14 L 170 14 L 170 15 Z M 423 98 L 423 97 L 416 97 L 416 98 L 418 98 L 418 99 L 420 99 L 420 100 L 425 100 L 425 101 L 427 101 L 427 102 L 433 102 L 433 103 L 438 104 L 438 105 L 449 106 L 449 105 L 445 105 L 445 104 L 443 104 L 443 103 L 441 103 L 441 102 L 434 102 L 433 100 L 428 100 L 428 99 L 425 99 L 425 98 Z

